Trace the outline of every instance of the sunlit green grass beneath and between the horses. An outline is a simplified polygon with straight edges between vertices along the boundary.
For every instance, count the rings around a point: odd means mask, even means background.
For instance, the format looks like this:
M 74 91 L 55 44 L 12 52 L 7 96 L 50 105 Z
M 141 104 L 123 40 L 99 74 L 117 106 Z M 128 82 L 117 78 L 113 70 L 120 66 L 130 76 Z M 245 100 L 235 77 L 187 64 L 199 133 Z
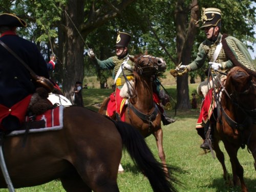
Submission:
M 190 94 L 195 91 L 197 84 L 189 85 Z M 101 101 L 111 93 L 112 90 L 88 89 L 83 90 L 84 103 L 90 109 L 97 110 Z M 176 87 L 169 86 L 167 91 L 175 97 Z M 199 98 L 200 102 L 200 98 Z M 198 103 L 198 107 L 200 103 Z M 167 112 L 170 116 L 174 115 L 174 111 Z M 211 154 L 204 154 L 200 149 L 202 143 L 201 138 L 197 135 L 195 125 L 199 109 L 189 111 L 178 111 L 176 122 L 167 126 L 162 126 L 163 129 L 163 145 L 167 163 L 180 168 L 176 172 L 176 177 L 184 186 L 177 185 L 178 191 L 188 192 L 220 192 L 220 191 L 240 191 L 240 187 L 230 188 L 225 185 L 222 178 L 222 167 L 217 159 L 213 159 Z M 156 159 L 158 152 L 156 142 L 153 136 L 146 139 Z M 229 158 L 221 143 L 221 150 L 225 154 L 225 162 L 227 169 L 231 174 L 231 166 Z M 245 150 L 239 150 L 238 157 L 240 163 L 244 167 L 245 182 L 249 191 L 256 191 L 256 172 L 253 166 L 252 155 Z M 150 192 L 152 191 L 147 179 L 138 172 L 134 166 L 129 154 L 123 152 L 121 163 L 125 172 L 118 175 L 118 185 L 121 192 Z M 1 189 L 8 191 L 7 189 Z M 17 192 L 23 191 L 65 191 L 59 181 L 28 188 L 16 189 Z M 74 191 L 75 192 L 75 191 Z M 106 191 L 108 192 L 108 191 Z

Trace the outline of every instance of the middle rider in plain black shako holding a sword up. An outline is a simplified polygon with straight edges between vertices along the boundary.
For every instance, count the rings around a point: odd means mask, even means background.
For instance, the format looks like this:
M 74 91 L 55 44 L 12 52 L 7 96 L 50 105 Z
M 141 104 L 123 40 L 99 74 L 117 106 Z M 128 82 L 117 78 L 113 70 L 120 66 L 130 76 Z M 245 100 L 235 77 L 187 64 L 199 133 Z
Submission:
M 117 116 L 119 116 L 122 121 L 125 121 L 124 110 L 122 112 L 120 111 L 121 105 L 123 105 L 123 98 L 119 95 L 119 93 L 125 83 L 125 77 L 129 81 L 134 78 L 132 72 L 134 63 L 129 59 L 129 56 L 132 56 L 129 55 L 128 50 L 130 40 L 130 34 L 125 32 L 118 32 L 115 45 L 116 55 L 106 60 L 99 60 L 95 56 L 92 49 L 88 52 L 89 57 L 93 59 L 93 61 L 97 63 L 101 69 L 114 69 L 113 79 L 115 79 L 115 91 L 110 95 L 110 101 L 108 103 L 106 114 L 112 118 L 117 114 Z M 121 68 L 121 65 L 123 65 L 124 74 L 122 72 L 118 72 L 120 71 L 119 69 Z M 164 113 L 164 109 L 160 106 L 160 104 L 158 104 L 158 107 L 162 113 L 162 122 L 164 125 L 173 123 L 175 121 L 175 119 L 166 116 L 166 113 Z

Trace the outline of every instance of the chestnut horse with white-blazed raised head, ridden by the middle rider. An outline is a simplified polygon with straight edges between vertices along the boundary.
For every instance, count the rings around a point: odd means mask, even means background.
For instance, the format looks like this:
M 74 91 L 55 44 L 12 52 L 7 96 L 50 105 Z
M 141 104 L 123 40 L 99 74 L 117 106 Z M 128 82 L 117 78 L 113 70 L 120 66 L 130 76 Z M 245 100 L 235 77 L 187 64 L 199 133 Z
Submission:
M 135 69 L 132 94 L 125 109 L 125 122 L 134 125 L 144 137 L 155 136 L 159 158 L 165 164 L 161 113 L 153 101 L 152 79 L 157 72 L 166 69 L 166 63 L 162 58 L 150 55 L 136 55 L 130 59 L 135 63 Z M 109 98 L 103 101 L 100 114 L 106 114 L 108 102 Z

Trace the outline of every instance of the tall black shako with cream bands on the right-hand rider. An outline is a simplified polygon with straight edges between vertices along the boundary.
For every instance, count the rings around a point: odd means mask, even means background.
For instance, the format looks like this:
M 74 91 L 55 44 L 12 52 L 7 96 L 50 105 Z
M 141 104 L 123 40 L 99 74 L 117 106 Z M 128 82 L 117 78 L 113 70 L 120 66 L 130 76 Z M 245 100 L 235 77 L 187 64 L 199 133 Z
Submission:
M 221 10 L 217 8 L 207 8 L 202 10 L 203 25 L 200 29 L 204 29 L 208 26 L 221 27 Z

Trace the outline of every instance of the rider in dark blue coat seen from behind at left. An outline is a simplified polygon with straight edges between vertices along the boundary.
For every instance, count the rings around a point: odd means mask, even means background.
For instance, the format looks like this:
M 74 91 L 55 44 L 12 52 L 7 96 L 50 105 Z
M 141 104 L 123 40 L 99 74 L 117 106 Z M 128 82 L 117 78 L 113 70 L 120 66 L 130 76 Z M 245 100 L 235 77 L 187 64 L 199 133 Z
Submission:
M 0 40 L 38 76 L 49 78 L 47 63 L 36 45 L 16 34 L 17 27 L 27 27 L 15 14 L 0 14 Z M 0 130 L 12 131 L 25 120 L 27 107 L 36 85 L 30 72 L 5 47 L 0 45 Z

